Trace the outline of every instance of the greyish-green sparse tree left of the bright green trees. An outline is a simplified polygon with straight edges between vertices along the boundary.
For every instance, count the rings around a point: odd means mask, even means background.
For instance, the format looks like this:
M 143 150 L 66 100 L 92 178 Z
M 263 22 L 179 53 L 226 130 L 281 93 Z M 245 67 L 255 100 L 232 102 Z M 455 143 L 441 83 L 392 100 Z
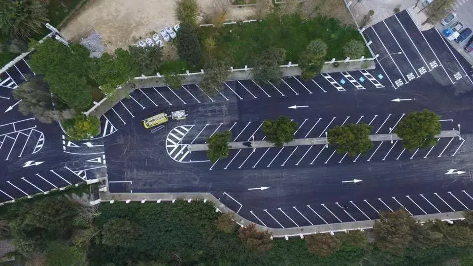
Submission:
M 18 110 L 23 115 L 33 114 L 41 123 L 62 121 L 74 116 L 73 109 L 55 110 L 49 86 L 39 76 L 27 77 L 27 82 L 22 83 L 13 91 L 13 97 L 21 100 Z

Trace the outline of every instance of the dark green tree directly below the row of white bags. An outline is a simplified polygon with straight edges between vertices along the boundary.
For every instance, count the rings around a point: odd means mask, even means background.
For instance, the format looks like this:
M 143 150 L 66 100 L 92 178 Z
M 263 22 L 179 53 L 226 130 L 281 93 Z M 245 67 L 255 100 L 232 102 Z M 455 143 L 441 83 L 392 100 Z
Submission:
M 163 49 L 159 45 L 146 47 L 133 45 L 128 50 L 141 74 L 146 76 L 156 75 L 163 55 Z

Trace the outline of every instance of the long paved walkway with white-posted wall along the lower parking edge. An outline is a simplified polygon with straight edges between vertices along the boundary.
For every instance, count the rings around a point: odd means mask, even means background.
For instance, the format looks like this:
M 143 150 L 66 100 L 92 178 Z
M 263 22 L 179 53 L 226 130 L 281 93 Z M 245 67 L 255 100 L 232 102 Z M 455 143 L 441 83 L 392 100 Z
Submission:
M 216 208 L 216 211 L 223 213 L 232 213 L 235 219 L 235 222 L 241 226 L 247 226 L 250 223 L 253 223 L 240 215 L 236 214 L 233 210 L 225 206 L 217 198 L 215 198 L 210 193 L 101 193 L 100 194 L 101 202 L 114 202 L 117 201 L 141 201 L 145 202 L 158 202 L 162 201 L 174 201 L 176 199 L 182 200 L 203 200 L 210 201 Z M 426 222 L 428 220 L 458 220 L 464 219 L 463 213 L 460 211 L 457 212 L 445 212 L 445 213 L 436 213 L 436 214 L 427 214 L 427 215 L 417 215 L 414 216 L 420 222 Z M 374 220 L 368 221 L 358 221 L 358 222 L 347 222 L 347 223 L 337 223 L 337 224 L 325 224 L 325 225 L 315 225 L 315 226 L 303 226 L 303 227 L 293 227 L 293 228 L 270 228 L 262 225 L 256 225 L 258 230 L 265 231 L 268 230 L 272 233 L 273 237 L 294 237 L 306 234 L 313 233 L 329 233 L 329 232 L 344 232 L 348 230 L 360 230 L 360 229 L 371 229 L 373 227 Z

